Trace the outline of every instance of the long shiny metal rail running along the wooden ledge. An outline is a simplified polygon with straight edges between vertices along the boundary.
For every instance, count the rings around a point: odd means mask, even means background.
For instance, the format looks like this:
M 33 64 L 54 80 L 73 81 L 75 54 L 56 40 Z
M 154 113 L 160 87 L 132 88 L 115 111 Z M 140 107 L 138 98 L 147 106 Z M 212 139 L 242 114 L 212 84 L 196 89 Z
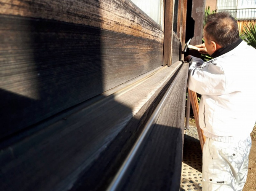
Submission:
M 182 67 L 184 67 L 184 64 L 182 64 Z M 172 81 L 171 85 L 167 89 L 166 93 L 164 94 L 163 98 L 159 102 L 158 106 L 156 107 L 155 111 L 152 113 L 150 118 L 148 119 L 147 124 L 145 125 L 142 133 L 138 137 L 137 141 L 135 142 L 134 146 L 132 147 L 132 150 L 128 154 L 127 158 L 125 159 L 124 163 L 122 164 L 121 168 L 119 169 L 118 173 L 114 177 L 113 181 L 109 185 L 109 187 L 106 189 L 106 191 L 118 191 L 121 189 L 122 185 L 124 184 L 124 180 L 129 174 L 129 169 L 132 168 L 132 166 L 135 164 L 136 158 L 140 153 L 140 150 L 143 148 L 143 145 L 145 141 L 148 138 L 148 135 L 150 135 L 150 132 L 152 130 L 152 127 L 157 120 L 159 114 L 161 113 L 162 108 L 164 107 L 164 103 L 168 99 L 169 95 L 172 92 L 172 89 L 177 81 L 177 79 L 180 76 L 181 68 L 179 68 L 179 72 L 175 76 L 174 80 Z

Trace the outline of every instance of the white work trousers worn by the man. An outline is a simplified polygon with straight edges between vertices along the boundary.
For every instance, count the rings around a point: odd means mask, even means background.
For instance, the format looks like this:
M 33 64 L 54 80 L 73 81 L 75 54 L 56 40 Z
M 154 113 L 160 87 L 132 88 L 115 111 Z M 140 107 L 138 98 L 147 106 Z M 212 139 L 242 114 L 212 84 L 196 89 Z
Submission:
M 250 150 L 250 136 L 234 143 L 207 138 L 203 148 L 203 191 L 242 191 Z

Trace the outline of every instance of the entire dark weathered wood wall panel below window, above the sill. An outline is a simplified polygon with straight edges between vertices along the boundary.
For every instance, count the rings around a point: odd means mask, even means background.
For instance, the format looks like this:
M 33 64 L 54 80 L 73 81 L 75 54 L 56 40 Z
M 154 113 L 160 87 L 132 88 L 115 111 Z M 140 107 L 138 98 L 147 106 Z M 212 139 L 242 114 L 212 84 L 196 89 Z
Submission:
M 161 66 L 160 28 L 126 0 L 2 2 L 0 138 Z

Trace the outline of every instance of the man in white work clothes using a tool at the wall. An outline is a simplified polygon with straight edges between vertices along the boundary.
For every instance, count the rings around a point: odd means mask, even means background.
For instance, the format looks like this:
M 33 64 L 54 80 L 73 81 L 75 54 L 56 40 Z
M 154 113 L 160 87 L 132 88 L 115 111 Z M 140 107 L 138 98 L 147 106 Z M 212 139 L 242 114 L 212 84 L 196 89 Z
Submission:
M 197 47 L 213 59 L 185 58 L 188 88 L 202 95 L 203 191 L 242 191 L 256 121 L 256 49 L 240 39 L 229 13 L 209 15 L 203 35 Z

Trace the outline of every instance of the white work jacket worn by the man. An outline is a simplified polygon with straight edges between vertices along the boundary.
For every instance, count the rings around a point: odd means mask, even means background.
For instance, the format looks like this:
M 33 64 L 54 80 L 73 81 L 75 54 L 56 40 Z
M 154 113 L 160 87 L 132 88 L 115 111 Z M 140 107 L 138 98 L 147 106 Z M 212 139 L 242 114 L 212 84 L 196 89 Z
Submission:
M 188 88 L 202 95 L 199 124 L 206 137 L 244 140 L 256 121 L 256 49 L 242 41 L 208 62 L 192 57 Z

